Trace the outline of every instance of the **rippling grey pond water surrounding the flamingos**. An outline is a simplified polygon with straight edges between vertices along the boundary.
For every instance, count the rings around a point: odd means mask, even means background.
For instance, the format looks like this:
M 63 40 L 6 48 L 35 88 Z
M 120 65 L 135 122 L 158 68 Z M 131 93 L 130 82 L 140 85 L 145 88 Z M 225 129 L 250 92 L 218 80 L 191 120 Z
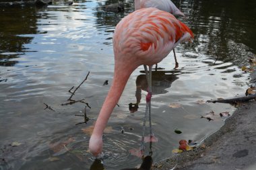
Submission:
M 113 77 L 111 38 L 119 20 L 133 11 L 131 3 L 126 3 L 124 13 L 100 10 L 110 2 L 57 3 L 45 9 L 0 7 L 0 157 L 5 159 L 0 169 L 90 169 L 94 161 L 88 153 L 90 127 L 110 86 L 102 84 L 112 83 Z M 244 95 L 249 74 L 240 68 L 256 52 L 254 0 L 174 3 L 187 15 L 181 20 L 193 30 L 195 40 L 176 48 L 179 69 L 173 69 L 171 52 L 158 65 L 164 70 L 153 73 L 152 119 L 158 138 L 152 145 L 154 161 L 172 156 L 179 140 L 201 141 L 222 126 L 218 114 L 232 113 L 232 105 L 197 101 Z M 83 115 L 86 104 L 61 103 L 67 102 L 68 90 L 77 87 L 88 71 L 73 99 L 89 103 L 90 121 L 78 124 L 84 118 L 75 115 Z M 140 146 L 146 107 L 146 80 L 140 71 L 143 67 L 131 75 L 108 123 L 105 169 L 141 163 L 129 153 Z M 135 91 L 141 89 L 139 108 L 130 113 L 128 104 L 136 102 Z M 44 110 L 44 103 L 54 111 Z M 181 107 L 170 108 L 170 103 Z M 214 121 L 200 119 L 211 111 L 216 113 Z M 183 133 L 175 134 L 175 128 Z

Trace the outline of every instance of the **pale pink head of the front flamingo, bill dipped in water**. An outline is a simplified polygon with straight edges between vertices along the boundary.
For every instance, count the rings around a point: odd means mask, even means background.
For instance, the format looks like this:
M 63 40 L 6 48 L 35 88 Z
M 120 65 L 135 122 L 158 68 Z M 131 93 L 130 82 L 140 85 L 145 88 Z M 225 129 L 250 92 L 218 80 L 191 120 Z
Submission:
M 102 136 L 98 136 L 96 134 L 92 134 L 89 142 L 89 150 L 94 157 L 99 157 L 102 153 L 103 142 Z

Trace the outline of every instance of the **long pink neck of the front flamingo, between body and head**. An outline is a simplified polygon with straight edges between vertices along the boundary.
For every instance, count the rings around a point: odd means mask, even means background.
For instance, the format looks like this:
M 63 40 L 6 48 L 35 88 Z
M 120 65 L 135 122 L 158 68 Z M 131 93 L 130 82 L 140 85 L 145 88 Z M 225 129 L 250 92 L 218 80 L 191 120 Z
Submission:
M 123 90 L 125 89 L 125 85 L 131 75 L 132 71 L 121 70 L 115 68 L 113 84 L 108 91 L 108 95 L 102 105 L 100 110 L 100 114 L 97 118 L 96 124 L 94 126 L 93 134 L 96 136 L 102 136 L 104 128 L 108 122 L 108 118 L 112 114 L 117 102 L 119 101 Z

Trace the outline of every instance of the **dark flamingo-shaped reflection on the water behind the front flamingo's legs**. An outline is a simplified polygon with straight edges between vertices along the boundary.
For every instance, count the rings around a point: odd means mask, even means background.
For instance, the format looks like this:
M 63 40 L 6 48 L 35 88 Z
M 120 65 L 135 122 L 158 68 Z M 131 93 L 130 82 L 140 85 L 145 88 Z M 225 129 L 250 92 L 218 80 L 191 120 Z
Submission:
M 152 71 L 152 94 L 164 94 L 170 88 L 172 82 L 179 79 L 179 71 Z M 136 103 L 129 103 L 129 110 L 136 112 L 141 101 L 141 91 L 148 91 L 146 75 L 138 75 L 136 79 Z

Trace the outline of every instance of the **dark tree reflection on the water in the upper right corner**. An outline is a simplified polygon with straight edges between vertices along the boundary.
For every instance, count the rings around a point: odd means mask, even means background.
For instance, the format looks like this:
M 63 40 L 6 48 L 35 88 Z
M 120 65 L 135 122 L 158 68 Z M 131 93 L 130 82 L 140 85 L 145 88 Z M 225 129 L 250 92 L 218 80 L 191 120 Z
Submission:
M 241 62 L 248 57 L 246 46 L 255 48 L 255 1 L 187 0 L 189 26 L 195 33 L 192 46 L 225 62 Z M 254 5 L 253 5 L 254 4 Z M 254 18 L 254 19 L 253 19 Z M 245 46 L 243 45 L 245 44 Z M 199 48 L 200 46 L 200 48 Z M 243 58 L 243 59 L 241 59 Z

